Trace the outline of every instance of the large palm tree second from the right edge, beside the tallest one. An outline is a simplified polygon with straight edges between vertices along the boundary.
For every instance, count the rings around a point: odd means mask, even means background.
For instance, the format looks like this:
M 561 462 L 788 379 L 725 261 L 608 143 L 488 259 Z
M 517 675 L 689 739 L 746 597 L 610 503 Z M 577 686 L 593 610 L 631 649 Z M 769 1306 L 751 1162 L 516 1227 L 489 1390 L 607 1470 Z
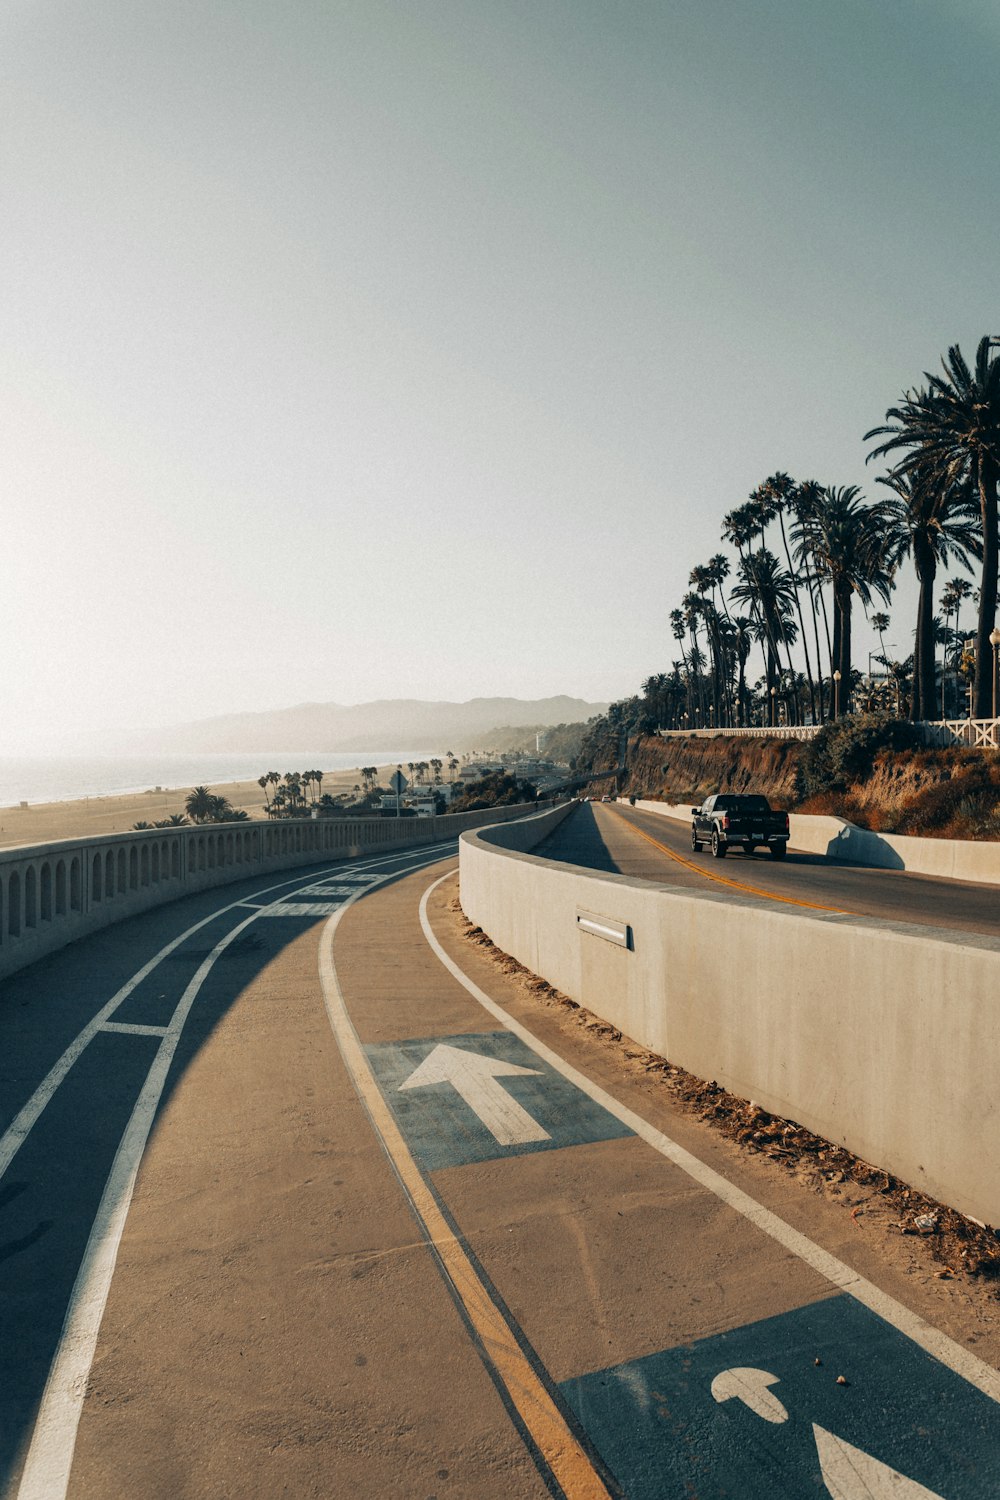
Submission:
M 886 556 L 895 567 L 912 554 L 921 584 L 910 714 L 915 720 L 934 718 L 934 578 L 942 564 L 955 560 L 967 567 L 969 554 L 981 555 L 978 507 L 972 502 L 967 486 L 942 483 L 930 466 L 913 466 L 909 474 L 894 470 L 879 483 L 891 489 L 894 496 L 888 501 Z

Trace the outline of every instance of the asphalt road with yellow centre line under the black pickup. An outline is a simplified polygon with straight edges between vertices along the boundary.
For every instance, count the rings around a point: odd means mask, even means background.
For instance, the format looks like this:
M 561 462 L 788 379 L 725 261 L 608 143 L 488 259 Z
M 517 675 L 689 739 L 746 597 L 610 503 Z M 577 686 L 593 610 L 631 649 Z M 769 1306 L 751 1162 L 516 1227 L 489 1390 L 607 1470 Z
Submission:
M 1000 936 L 1000 886 L 835 864 L 792 848 L 783 861 L 739 852 L 714 860 L 708 849 L 693 852 L 690 824 L 619 802 L 580 804 L 535 854 L 684 890 L 736 888 L 762 902 Z

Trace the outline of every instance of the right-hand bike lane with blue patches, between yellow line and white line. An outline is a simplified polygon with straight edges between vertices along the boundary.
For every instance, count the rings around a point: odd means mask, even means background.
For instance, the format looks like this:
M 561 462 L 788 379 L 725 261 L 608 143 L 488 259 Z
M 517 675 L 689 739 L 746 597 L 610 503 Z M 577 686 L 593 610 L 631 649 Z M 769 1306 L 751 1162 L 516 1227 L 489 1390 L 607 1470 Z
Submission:
M 406 898 L 405 884 L 373 894 L 342 924 L 343 998 L 406 1149 L 592 1458 L 586 1492 L 993 1492 L 996 1371 L 979 1366 L 981 1389 L 976 1360 L 930 1353 L 852 1268 L 651 1149 L 628 1108 L 511 1034 L 502 1006 L 456 1032 L 441 984 L 442 1010 L 423 998 L 373 1022 L 352 976 L 379 924 L 397 942 L 409 928 L 417 966 Z

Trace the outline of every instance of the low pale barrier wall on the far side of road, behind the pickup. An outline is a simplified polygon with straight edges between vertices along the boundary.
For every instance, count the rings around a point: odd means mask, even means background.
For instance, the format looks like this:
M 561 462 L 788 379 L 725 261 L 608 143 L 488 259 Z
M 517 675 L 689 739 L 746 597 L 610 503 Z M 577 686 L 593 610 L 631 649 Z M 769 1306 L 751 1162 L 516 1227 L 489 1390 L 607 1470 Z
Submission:
M 628 798 L 619 798 L 628 801 Z M 691 822 L 690 802 L 636 801 L 643 813 L 660 813 Z M 912 874 L 937 874 L 948 880 L 978 880 L 1000 885 L 1000 843 L 973 838 L 910 838 L 904 834 L 873 834 L 843 818 L 814 818 L 789 813 L 790 843 L 807 854 L 828 860 L 864 864 L 876 870 L 909 870 Z

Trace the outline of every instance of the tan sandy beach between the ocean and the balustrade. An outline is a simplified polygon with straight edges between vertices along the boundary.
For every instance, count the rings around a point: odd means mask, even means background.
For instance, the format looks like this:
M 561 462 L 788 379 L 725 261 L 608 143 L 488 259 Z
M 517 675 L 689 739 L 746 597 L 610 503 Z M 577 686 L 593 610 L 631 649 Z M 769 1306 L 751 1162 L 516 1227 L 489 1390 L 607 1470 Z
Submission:
M 379 766 L 385 786 L 394 765 Z M 360 770 L 325 771 L 322 790 L 337 795 L 360 783 Z M 234 807 L 250 818 L 264 818 L 264 792 L 256 782 L 229 782 L 211 788 L 228 796 Z M 184 812 L 189 786 L 159 792 L 127 792 L 123 796 L 82 796 L 69 802 L 31 802 L 28 807 L 0 808 L 0 849 L 18 844 L 51 843 L 55 838 L 90 838 L 94 834 L 127 832 L 133 824 L 154 824 L 171 813 Z

